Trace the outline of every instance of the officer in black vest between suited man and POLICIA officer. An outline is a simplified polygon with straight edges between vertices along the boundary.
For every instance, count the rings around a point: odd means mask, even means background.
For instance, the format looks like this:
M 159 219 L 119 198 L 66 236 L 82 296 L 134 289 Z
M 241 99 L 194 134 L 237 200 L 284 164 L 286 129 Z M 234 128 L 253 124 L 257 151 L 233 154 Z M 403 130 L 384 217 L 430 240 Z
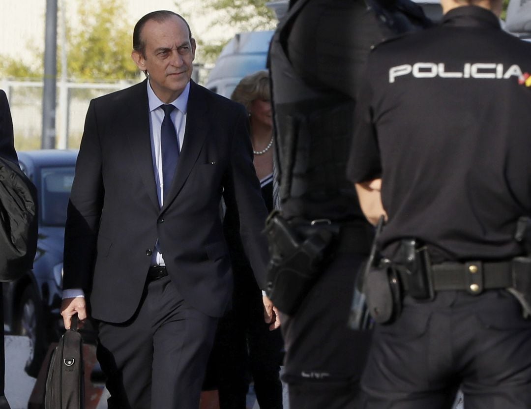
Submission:
M 418 7 L 402 3 L 425 22 Z M 388 11 L 386 20 L 395 21 Z M 406 23 L 396 20 L 401 29 L 410 28 Z M 282 312 L 293 409 L 345 409 L 357 398 L 370 334 L 347 328 L 347 320 L 373 228 L 347 180 L 346 162 L 359 75 L 383 37 L 363 0 L 297 0 L 272 40 L 282 213 L 268 220 L 268 295 Z

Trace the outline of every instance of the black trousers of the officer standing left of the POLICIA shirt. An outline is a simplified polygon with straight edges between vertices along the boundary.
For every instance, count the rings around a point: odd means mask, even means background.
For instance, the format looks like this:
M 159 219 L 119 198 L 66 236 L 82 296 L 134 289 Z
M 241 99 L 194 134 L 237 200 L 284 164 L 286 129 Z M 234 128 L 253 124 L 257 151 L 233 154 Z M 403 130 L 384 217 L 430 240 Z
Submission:
M 281 314 L 283 379 L 291 409 L 359 407 L 359 379 L 370 331 L 347 327 L 362 255 L 342 254 L 323 271 L 293 316 Z

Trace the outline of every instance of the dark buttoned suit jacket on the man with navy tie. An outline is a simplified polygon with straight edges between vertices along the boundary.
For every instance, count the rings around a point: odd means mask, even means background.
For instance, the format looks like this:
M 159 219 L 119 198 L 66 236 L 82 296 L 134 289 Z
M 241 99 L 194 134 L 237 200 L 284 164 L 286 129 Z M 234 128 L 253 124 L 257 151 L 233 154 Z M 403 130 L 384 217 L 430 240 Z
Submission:
M 267 211 L 245 109 L 191 82 L 181 156 L 160 209 L 147 84 L 92 100 L 68 206 L 64 288 L 89 292 L 94 318 L 126 321 L 140 303 L 159 238 L 169 276 L 184 299 L 221 316 L 232 292 L 222 194 L 237 207 L 242 241 L 264 288 L 268 255 L 261 231 Z

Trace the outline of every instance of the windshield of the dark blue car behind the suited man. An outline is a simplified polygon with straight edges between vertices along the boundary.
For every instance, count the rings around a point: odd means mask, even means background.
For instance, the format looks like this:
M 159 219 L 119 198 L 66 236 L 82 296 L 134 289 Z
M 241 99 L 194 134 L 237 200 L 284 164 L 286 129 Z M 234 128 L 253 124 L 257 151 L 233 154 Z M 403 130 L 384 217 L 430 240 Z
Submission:
M 39 210 L 43 225 L 64 227 L 74 171 L 74 166 L 41 168 Z

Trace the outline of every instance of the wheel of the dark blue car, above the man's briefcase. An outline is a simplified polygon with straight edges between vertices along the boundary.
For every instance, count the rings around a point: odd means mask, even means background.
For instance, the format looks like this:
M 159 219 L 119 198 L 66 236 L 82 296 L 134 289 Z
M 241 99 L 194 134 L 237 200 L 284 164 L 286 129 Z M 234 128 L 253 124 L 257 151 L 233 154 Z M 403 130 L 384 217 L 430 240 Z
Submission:
M 18 334 L 27 336 L 30 341 L 30 353 L 24 370 L 36 378 L 46 353 L 46 339 L 42 323 L 41 302 L 33 287 L 24 289 L 18 310 Z

